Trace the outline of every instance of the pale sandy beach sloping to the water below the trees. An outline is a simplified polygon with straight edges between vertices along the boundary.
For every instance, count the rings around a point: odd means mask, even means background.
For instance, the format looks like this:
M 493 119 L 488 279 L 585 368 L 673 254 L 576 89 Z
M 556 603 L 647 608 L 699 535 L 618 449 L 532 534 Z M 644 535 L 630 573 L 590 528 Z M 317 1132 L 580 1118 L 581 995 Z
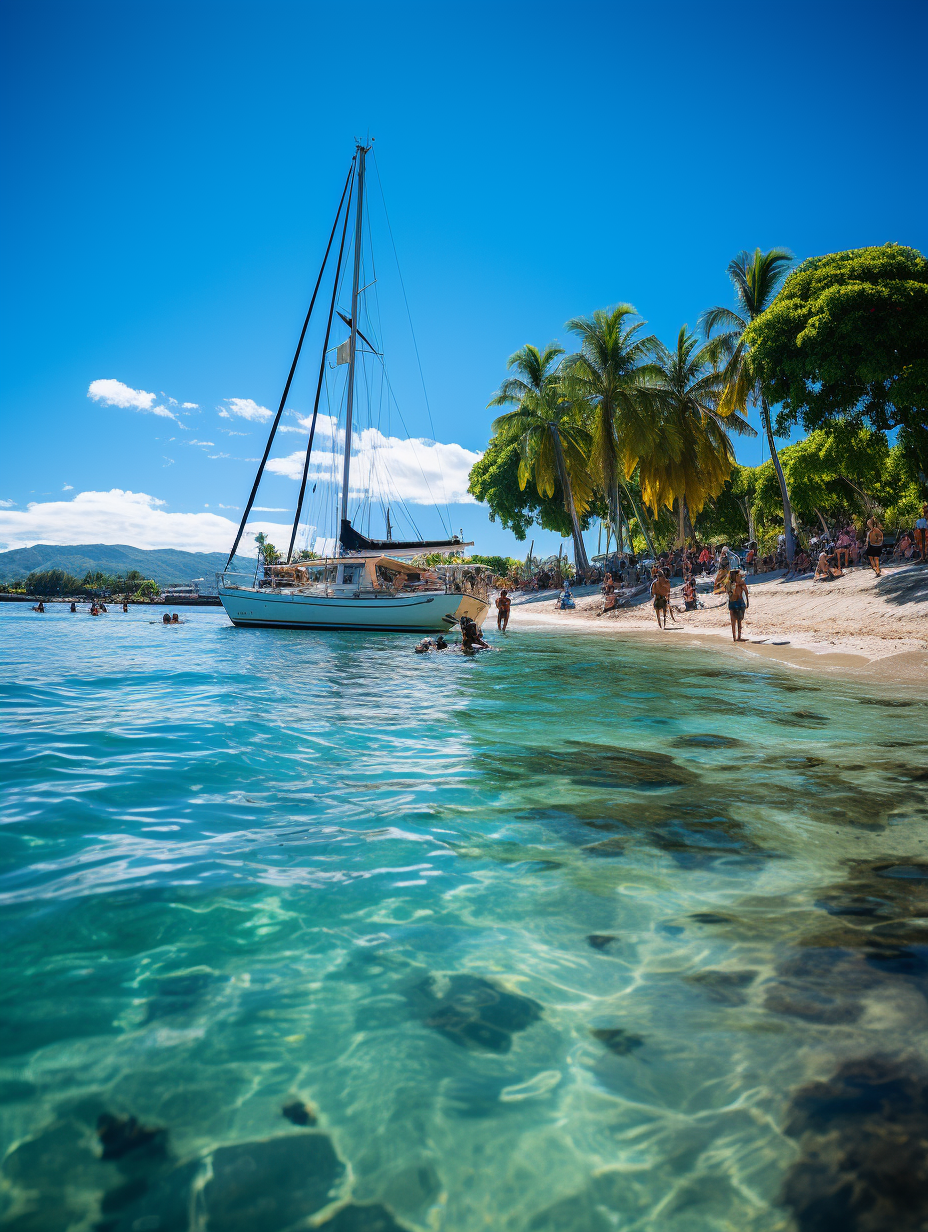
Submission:
M 698 611 L 683 611 L 683 585 L 672 590 L 677 623 L 658 631 L 648 595 L 609 615 L 599 615 L 599 586 L 579 586 L 574 611 L 557 611 L 557 591 L 514 595 L 511 630 L 529 625 L 568 626 L 596 633 L 673 637 L 690 644 L 709 641 L 732 654 L 778 659 L 794 668 L 832 669 L 884 681 L 928 686 L 928 567 L 869 567 L 843 578 L 813 583 L 810 577 L 785 582 L 781 573 L 748 578 L 751 606 L 744 642 L 735 643 L 725 595 L 714 595 L 711 579 L 700 579 Z M 488 622 L 493 614 L 488 616 Z

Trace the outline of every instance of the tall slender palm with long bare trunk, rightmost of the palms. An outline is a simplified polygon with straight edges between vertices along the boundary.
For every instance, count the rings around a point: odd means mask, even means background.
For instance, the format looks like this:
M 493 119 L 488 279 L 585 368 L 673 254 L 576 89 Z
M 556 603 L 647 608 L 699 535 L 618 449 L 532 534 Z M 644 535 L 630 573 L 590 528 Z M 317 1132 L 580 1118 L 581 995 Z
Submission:
M 727 416 L 732 411 L 744 410 L 748 400 L 760 408 L 760 424 L 767 434 L 770 458 L 780 484 L 786 556 L 790 561 L 796 549 L 792 532 L 792 506 L 786 489 L 786 478 L 776 456 L 770 408 L 760 387 L 758 373 L 754 371 L 751 350 L 744 341 L 744 331 L 752 320 L 757 320 L 760 313 L 770 307 L 791 264 L 792 253 L 786 248 L 771 248 L 768 253 L 762 253 L 759 248 L 755 248 L 753 254 L 738 253 L 735 260 L 728 262 L 728 277 L 735 286 L 735 298 L 739 310 L 710 308 L 700 318 L 706 338 L 710 338 L 714 330 L 720 330 L 712 340 L 718 349 L 718 355 L 725 360 L 725 386 L 718 403 L 718 413 Z

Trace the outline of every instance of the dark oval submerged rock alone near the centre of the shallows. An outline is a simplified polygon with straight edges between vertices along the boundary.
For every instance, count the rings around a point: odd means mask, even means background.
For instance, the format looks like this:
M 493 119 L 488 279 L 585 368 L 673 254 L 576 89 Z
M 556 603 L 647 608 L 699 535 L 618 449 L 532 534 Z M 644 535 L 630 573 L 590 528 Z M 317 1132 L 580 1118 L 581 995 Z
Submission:
M 513 1035 L 541 1018 L 530 997 L 510 993 L 479 976 L 426 976 L 407 993 L 426 1026 L 466 1048 L 508 1052 Z

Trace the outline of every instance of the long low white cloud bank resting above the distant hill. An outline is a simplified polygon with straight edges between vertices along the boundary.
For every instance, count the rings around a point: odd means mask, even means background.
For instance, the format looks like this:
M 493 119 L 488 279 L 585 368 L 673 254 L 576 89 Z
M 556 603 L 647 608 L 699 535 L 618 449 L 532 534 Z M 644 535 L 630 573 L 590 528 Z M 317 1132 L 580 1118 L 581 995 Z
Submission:
M 33 543 L 128 543 L 132 547 L 179 547 L 187 552 L 228 552 L 238 522 L 213 513 L 169 513 L 165 501 L 144 492 L 80 492 L 70 500 L 32 501 L 26 509 L 0 511 L 0 540 L 9 548 Z M 264 531 L 287 542 L 290 527 L 249 522 L 243 543 Z M 275 538 L 275 536 L 277 536 Z

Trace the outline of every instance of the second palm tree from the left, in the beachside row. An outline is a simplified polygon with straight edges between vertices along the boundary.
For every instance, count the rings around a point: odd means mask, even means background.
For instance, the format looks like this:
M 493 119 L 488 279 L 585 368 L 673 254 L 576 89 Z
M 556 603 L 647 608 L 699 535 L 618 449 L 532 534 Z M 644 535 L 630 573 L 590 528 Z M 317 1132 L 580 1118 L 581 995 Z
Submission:
M 566 361 L 577 393 L 592 408 L 593 445 L 590 467 L 609 501 L 609 516 L 621 548 L 622 513 L 619 488 L 631 501 L 648 547 L 653 543 L 645 519 L 627 488 L 642 453 L 653 450 L 656 399 L 651 383 L 656 377 L 649 362 L 657 344 L 653 336 L 640 338 L 645 322 L 631 304 L 599 308 L 592 317 L 574 317 L 567 329 L 580 339 L 580 350 Z

